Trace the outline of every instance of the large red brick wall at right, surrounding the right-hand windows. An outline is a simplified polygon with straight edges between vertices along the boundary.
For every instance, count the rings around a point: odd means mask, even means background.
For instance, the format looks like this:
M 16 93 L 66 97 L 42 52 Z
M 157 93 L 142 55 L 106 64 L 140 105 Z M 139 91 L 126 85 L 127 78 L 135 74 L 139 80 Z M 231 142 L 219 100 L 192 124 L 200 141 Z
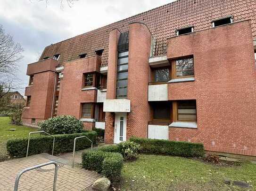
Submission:
M 198 129 L 169 138 L 256 156 L 256 67 L 249 21 L 168 39 L 168 59 L 194 55 L 195 81 L 168 84 L 168 99 L 196 99 Z

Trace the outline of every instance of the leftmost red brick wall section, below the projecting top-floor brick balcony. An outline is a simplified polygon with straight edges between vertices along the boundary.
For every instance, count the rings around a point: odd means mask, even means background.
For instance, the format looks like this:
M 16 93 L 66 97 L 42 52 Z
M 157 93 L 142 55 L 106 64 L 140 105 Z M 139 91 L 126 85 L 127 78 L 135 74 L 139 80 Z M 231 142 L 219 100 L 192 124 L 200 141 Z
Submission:
M 51 117 L 55 76 L 52 71 L 34 74 L 30 107 L 23 110 L 23 121 L 31 123 L 31 118 L 43 120 Z

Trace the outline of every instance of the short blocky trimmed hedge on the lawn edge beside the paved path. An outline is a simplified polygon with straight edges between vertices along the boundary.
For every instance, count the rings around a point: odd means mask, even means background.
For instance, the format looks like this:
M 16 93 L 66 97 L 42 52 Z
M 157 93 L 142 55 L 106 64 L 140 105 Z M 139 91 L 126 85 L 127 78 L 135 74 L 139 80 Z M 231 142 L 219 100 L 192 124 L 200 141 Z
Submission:
M 95 170 L 110 181 L 118 181 L 121 177 L 124 158 L 120 153 L 103 151 L 87 151 L 82 154 L 83 168 Z

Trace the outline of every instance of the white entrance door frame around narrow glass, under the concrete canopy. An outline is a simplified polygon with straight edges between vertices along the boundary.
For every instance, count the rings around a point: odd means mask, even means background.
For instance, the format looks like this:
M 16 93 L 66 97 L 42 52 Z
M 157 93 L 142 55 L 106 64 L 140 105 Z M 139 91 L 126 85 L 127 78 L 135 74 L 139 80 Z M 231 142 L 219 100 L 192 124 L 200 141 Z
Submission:
M 120 117 L 124 117 L 123 140 L 120 140 Z M 127 125 L 127 113 L 115 113 L 114 144 L 118 144 L 118 143 L 121 143 L 122 141 L 126 141 L 126 125 Z

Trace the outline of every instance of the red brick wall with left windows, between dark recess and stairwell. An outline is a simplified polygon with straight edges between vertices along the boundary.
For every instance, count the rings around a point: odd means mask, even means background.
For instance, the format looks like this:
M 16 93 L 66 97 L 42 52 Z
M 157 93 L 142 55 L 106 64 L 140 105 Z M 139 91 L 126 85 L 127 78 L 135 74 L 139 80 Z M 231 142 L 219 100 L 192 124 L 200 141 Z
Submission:
M 83 74 L 99 71 L 100 57 L 93 56 L 66 62 L 64 77 L 60 80 L 59 104 L 57 115 L 72 115 L 81 118 L 81 103 L 97 101 L 97 90 L 83 88 Z

